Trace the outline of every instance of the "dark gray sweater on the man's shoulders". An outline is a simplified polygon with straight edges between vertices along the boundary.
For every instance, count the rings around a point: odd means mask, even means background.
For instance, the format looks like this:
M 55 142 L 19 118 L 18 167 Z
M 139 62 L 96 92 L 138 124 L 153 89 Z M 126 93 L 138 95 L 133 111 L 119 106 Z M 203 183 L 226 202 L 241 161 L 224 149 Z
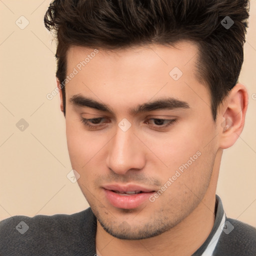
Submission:
M 216 195 L 215 222 L 211 233 L 192 256 L 203 252 L 207 256 L 255 256 L 256 229 L 248 224 L 225 218 L 223 231 L 215 239 L 222 216 L 225 216 L 223 213 L 221 200 Z M 96 217 L 90 207 L 71 215 L 13 216 L 0 222 L 0 256 L 94 256 L 96 225 Z M 208 254 L 205 249 L 214 239 L 217 243 L 213 253 Z

